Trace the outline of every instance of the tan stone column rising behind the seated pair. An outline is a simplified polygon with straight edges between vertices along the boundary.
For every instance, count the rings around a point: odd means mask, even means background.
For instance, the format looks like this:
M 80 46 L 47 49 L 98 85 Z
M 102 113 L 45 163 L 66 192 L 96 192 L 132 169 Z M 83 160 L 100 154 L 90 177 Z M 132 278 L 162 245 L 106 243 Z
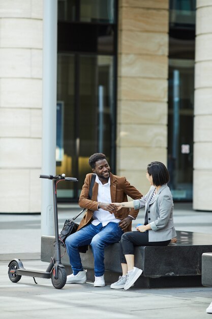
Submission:
M 142 193 L 167 163 L 168 0 L 119 0 L 117 174 Z

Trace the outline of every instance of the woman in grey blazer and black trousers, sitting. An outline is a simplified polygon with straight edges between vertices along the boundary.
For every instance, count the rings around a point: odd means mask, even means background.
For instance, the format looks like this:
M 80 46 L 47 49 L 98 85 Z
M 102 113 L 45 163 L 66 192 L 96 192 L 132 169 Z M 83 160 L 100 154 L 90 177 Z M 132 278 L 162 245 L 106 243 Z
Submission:
M 169 173 L 161 162 L 152 162 L 147 166 L 146 178 L 151 185 L 148 193 L 141 199 L 131 202 L 113 203 L 117 209 L 122 207 L 145 207 L 144 225 L 136 227 L 122 235 L 120 241 L 123 275 L 111 284 L 112 289 L 129 289 L 142 270 L 134 267 L 135 246 L 167 246 L 176 236 L 173 223 L 173 199 L 167 186 Z

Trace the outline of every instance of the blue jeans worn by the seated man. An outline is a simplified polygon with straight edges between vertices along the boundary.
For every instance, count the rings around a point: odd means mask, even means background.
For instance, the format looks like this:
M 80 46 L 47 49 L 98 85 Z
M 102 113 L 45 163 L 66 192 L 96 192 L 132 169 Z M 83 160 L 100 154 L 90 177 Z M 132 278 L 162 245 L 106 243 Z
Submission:
M 102 276 L 105 272 L 104 248 L 119 242 L 123 233 L 118 223 L 108 223 L 104 227 L 100 223 L 97 226 L 89 224 L 68 236 L 66 238 L 66 249 L 73 274 L 76 275 L 83 270 L 78 247 L 90 245 L 94 255 L 95 276 Z

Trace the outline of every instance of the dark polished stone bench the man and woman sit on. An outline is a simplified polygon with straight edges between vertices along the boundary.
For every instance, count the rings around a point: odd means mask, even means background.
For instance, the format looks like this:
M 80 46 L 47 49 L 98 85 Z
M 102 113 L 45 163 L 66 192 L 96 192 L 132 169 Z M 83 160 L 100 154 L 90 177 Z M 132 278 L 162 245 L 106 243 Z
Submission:
M 53 256 L 53 236 L 41 238 L 41 260 L 49 262 Z M 165 247 L 138 246 L 135 248 L 135 266 L 143 270 L 137 287 L 185 287 L 201 285 L 201 258 L 212 253 L 212 235 L 177 231 L 177 243 Z M 62 255 L 64 249 L 62 249 Z M 94 281 L 94 258 L 88 251 L 81 253 L 83 268 L 88 281 Z M 67 273 L 71 273 L 67 253 L 62 257 Z M 119 260 L 119 243 L 105 248 L 105 280 L 110 284 L 122 273 Z

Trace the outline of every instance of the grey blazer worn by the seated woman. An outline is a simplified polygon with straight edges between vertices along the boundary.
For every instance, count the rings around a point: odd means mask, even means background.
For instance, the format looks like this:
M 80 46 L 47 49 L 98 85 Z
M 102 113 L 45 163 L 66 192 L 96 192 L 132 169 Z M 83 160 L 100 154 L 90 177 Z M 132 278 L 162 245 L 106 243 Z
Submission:
M 152 228 L 148 231 L 149 242 L 164 242 L 176 236 L 173 222 L 173 199 L 169 187 L 164 184 L 149 204 L 154 191 L 155 187 L 151 186 L 145 196 L 134 200 L 133 203 L 135 209 L 145 207 L 145 215 Z

